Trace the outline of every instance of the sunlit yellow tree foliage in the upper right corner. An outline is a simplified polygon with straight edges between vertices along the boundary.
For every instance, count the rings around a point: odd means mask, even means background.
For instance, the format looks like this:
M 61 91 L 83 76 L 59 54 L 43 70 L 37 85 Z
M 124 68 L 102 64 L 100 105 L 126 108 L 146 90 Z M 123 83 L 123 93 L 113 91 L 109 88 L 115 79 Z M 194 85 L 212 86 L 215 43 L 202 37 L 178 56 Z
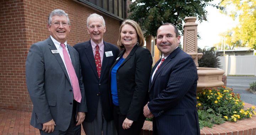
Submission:
M 241 40 L 241 45 L 256 49 L 256 0 L 223 0 L 222 13 L 233 19 L 239 17 L 239 25 L 234 28 L 234 35 Z M 228 6 L 234 8 L 228 9 Z

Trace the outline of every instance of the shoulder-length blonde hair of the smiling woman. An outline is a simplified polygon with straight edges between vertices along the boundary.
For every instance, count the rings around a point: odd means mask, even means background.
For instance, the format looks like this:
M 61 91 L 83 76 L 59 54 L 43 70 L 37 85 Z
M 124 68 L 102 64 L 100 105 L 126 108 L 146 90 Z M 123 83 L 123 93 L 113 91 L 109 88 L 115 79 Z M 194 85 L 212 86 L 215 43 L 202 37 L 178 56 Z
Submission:
M 141 47 L 143 47 L 144 46 L 144 36 L 143 36 L 142 30 L 140 29 L 138 23 L 133 21 L 133 20 L 125 20 L 125 21 L 122 22 L 122 24 L 121 24 L 121 26 L 119 28 L 119 38 L 118 38 L 118 41 L 117 41 L 117 45 L 121 49 L 124 48 L 124 45 L 121 42 L 121 31 L 122 31 L 122 28 L 123 28 L 124 25 L 131 25 L 131 26 L 133 26 L 133 28 L 136 30 L 136 33 L 137 33 L 139 45 Z

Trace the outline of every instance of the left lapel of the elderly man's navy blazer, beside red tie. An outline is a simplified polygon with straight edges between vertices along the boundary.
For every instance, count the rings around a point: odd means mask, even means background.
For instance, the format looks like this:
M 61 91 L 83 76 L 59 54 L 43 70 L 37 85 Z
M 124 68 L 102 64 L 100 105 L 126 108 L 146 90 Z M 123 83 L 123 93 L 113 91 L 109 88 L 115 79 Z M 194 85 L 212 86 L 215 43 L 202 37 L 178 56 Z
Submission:
M 96 64 L 95 64 L 94 54 L 92 52 L 91 42 L 88 42 L 88 44 L 85 45 L 84 53 L 85 53 L 85 55 L 88 59 L 88 62 L 91 65 L 91 68 L 92 68 L 92 71 L 94 72 L 94 75 L 97 77 L 97 79 L 99 79 Z

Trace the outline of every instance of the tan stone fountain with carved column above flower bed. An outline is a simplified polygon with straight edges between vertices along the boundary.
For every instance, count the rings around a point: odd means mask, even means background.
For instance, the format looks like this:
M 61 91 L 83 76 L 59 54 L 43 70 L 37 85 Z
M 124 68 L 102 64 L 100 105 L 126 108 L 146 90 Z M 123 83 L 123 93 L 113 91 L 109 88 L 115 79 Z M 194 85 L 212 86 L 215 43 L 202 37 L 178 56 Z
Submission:
M 196 17 L 185 18 L 183 51 L 189 54 L 196 66 L 198 74 L 197 93 L 203 88 L 223 86 L 222 75 L 224 70 L 218 68 L 200 68 L 198 67 L 198 59 L 202 58 L 203 54 L 197 52 L 197 23 Z

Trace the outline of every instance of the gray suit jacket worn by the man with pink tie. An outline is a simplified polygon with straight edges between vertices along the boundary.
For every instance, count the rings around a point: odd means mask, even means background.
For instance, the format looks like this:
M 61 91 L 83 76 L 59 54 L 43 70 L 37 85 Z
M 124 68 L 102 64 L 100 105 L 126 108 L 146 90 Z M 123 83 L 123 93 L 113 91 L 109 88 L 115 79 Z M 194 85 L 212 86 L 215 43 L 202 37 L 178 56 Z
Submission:
M 76 113 L 87 112 L 79 55 L 73 47 L 67 47 L 82 95 L 81 103 L 76 102 Z M 33 44 L 28 52 L 26 82 L 33 103 L 31 125 L 42 129 L 43 123 L 53 119 L 56 124 L 54 130 L 65 131 L 70 124 L 74 95 L 62 58 L 51 50 L 57 48 L 49 37 Z

